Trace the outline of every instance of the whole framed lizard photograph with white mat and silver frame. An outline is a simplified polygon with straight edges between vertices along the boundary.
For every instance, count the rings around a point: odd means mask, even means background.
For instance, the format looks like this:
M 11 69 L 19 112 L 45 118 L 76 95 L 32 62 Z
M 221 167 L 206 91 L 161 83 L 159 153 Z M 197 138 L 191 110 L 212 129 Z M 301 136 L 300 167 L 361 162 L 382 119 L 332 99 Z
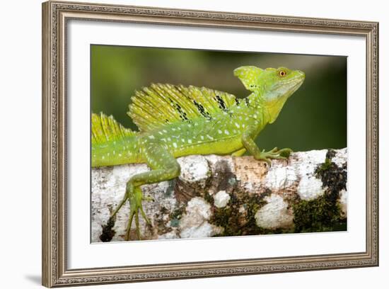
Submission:
M 378 266 L 378 23 L 42 4 L 42 284 Z

